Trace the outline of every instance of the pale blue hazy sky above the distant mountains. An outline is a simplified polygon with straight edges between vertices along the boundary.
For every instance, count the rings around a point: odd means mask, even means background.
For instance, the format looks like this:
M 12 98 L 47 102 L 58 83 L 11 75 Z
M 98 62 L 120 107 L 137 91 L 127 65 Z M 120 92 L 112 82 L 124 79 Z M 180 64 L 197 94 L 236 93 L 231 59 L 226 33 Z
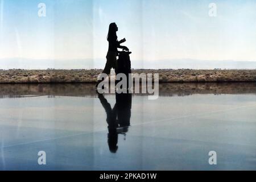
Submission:
M 46 17 L 38 16 L 40 2 Z M 212 2 L 216 17 L 208 15 Z M 118 38 L 126 38 L 131 59 L 142 65 L 256 61 L 256 1 L 0 0 L 0 7 L 1 60 L 105 59 L 108 26 L 116 22 Z

